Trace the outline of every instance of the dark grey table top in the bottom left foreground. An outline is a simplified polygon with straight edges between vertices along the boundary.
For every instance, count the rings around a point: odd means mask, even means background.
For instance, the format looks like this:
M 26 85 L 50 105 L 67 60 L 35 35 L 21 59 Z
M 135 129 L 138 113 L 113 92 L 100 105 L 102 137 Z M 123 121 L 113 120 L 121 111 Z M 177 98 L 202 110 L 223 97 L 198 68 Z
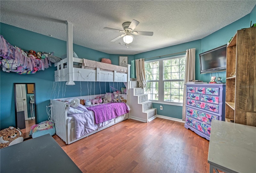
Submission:
M 0 150 L 0 172 L 81 172 L 59 144 L 46 134 Z

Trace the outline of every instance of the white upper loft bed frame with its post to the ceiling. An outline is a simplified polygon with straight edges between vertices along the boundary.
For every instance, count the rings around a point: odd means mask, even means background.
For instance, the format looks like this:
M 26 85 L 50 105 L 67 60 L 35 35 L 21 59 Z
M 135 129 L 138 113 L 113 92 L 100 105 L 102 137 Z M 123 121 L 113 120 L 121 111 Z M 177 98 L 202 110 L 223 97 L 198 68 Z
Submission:
M 73 57 L 73 23 L 66 22 L 67 26 L 67 58 L 55 63 L 55 82 L 66 81 L 66 85 L 75 85 L 74 81 L 97 81 L 97 82 L 127 82 L 125 83 L 127 91 L 129 90 L 130 66 L 127 66 L 127 73 L 118 73 L 116 69 L 113 72 L 104 71 L 97 68 L 96 70 L 81 69 L 73 67 L 73 62 L 82 63 L 83 59 Z M 67 68 L 63 64 L 67 63 Z M 113 65 L 114 66 L 114 65 Z M 59 68 L 61 67 L 61 68 Z

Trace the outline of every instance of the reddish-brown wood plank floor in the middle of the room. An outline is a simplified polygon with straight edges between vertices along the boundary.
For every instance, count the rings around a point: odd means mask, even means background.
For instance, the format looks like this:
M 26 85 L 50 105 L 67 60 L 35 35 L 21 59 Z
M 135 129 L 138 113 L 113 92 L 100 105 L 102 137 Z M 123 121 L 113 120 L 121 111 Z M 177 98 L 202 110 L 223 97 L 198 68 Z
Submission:
M 209 141 L 177 121 L 129 119 L 70 145 L 53 137 L 83 172 L 209 172 Z

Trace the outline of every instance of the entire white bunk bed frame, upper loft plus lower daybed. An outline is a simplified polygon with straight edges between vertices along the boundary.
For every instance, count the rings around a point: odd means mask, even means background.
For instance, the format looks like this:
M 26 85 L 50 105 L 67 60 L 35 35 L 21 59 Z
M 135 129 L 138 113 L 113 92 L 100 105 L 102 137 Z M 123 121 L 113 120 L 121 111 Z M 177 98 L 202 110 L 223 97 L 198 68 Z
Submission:
M 73 67 L 74 62 L 82 63 L 83 59 L 73 57 L 73 23 L 66 22 L 67 26 L 67 58 L 55 63 L 57 70 L 55 71 L 55 82 L 65 82 L 66 85 L 75 85 L 74 81 L 95 81 L 95 82 L 124 82 L 126 86 L 126 95 L 122 95 L 124 99 L 128 99 L 129 81 L 130 81 L 130 66 L 127 66 L 126 73 L 119 73 L 115 68 L 113 71 L 105 71 L 104 69 L 96 68 L 96 70 L 82 69 Z M 67 63 L 67 68 L 63 67 L 63 64 Z M 78 99 L 91 99 L 100 95 L 74 97 Z M 67 98 L 66 98 L 67 99 Z M 63 100 L 63 99 L 61 99 Z M 66 144 L 78 141 L 84 137 L 87 137 L 93 133 L 96 133 L 102 129 L 105 129 L 111 125 L 114 125 L 122 120 L 128 119 L 128 113 L 122 116 L 118 116 L 114 121 L 111 121 L 104 127 L 101 127 L 91 133 L 76 139 L 75 136 L 75 122 L 69 123 L 68 114 L 65 111 L 65 102 L 58 101 L 57 99 L 51 100 L 51 118 L 55 122 L 56 134 L 61 137 Z

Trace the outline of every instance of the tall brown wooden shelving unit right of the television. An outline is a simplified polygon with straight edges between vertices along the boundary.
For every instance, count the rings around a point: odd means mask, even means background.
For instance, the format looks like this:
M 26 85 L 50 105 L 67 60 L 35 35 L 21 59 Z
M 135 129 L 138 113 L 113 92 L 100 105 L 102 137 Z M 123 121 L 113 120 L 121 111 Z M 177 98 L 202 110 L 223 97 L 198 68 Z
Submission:
M 238 30 L 227 46 L 225 119 L 256 127 L 255 43 L 256 27 L 251 27 Z

